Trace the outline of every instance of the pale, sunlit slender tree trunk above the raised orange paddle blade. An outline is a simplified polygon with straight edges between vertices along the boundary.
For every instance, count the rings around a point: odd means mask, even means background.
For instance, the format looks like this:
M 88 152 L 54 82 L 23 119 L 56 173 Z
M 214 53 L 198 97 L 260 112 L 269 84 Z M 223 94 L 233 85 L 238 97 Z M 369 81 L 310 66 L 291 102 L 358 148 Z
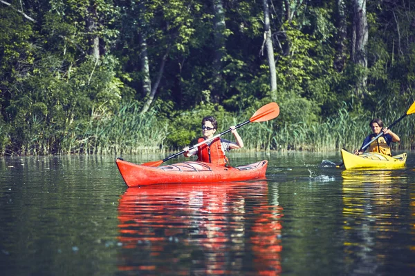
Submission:
M 264 1 L 264 43 L 268 55 L 268 66 L 270 67 L 270 88 L 277 90 L 277 71 L 275 70 L 274 47 L 270 28 L 270 8 L 268 0 Z M 264 48 L 264 46 L 263 46 Z

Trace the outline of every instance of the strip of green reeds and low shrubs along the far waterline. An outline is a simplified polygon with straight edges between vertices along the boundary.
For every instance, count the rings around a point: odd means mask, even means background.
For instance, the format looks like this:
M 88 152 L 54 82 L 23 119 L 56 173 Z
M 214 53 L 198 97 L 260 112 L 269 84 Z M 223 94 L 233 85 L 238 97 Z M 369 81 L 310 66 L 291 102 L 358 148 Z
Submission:
M 209 112 L 201 106 L 192 112 L 177 114 L 174 119 L 159 117 L 155 109 L 145 115 L 140 114 L 138 104 L 130 102 L 122 106 L 113 115 L 105 112 L 93 112 L 86 122 L 79 122 L 68 130 L 57 130 L 55 135 L 46 136 L 42 126 L 33 129 L 20 148 L 13 148 L 10 136 L 0 126 L 1 156 L 30 155 L 112 155 L 142 154 L 153 152 L 173 152 L 184 146 L 196 144 L 200 135 L 199 117 Z M 208 110 L 214 110 L 210 106 Z M 212 108 L 213 107 L 213 108 Z M 284 112 L 282 110 L 282 112 Z M 245 121 L 249 112 L 235 114 L 231 112 L 210 112 L 218 118 L 219 128 Z M 399 112 L 389 112 L 382 116 L 385 124 L 396 119 Z M 283 117 L 283 115 L 281 115 Z M 306 124 L 303 121 L 287 123 L 279 118 L 270 121 L 252 123 L 239 128 L 245 147 L 241 152 L 252 151 L 315 151 L 333 152 L 346 148 L 349 150 L 361 146 L 369 135 L 369 121 L 374 116 L 351 115 L 347 108 L 341 108 L 338 115 L 322 122 Z M 196 118 L 195 120 L 192 118 Z M 39 123 L 40 124 L 40 123 Z M 414 149 L 415 120 L 407 117 L 394 126 L 401 141 L 393 144 L 393 150 Z M 3 131 L 2 131 L 3 130 Z M 226 139 L 226 135 L 224 135 Z

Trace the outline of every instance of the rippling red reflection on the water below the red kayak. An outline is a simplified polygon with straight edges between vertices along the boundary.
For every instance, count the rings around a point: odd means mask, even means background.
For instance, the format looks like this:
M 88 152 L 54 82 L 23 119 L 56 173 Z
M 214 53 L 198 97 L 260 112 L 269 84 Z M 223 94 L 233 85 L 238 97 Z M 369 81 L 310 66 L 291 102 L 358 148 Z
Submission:
M 282 210 L 270 205 L 267 181 L 127 188 L 118 206 L 118 268 L 131 275 L 278 275 Z

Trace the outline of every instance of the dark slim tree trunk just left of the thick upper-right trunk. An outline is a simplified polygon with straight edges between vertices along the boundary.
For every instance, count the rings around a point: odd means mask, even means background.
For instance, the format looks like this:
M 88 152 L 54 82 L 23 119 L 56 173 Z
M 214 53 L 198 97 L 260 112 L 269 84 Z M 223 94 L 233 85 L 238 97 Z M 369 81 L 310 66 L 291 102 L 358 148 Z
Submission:
M 346 62 L 346 46 L 347 38 L 347 20 L 346 5 L 344 0 L 335 1 L 335 26 L 338 30 L 335 37 L 335 57 L 333 66 L 338 72 L 342 72 L 344 63 Z

